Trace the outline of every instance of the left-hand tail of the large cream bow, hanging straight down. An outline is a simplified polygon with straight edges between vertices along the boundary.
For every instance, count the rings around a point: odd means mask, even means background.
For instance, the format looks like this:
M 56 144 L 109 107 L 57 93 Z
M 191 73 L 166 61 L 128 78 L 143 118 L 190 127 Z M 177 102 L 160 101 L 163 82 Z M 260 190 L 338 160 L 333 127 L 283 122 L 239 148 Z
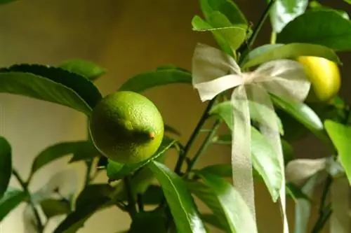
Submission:
M 233 184 L 253 216 L 255 226 L 248 226 L 247 229 L 255 229 L 255 232 L 250 233 L 257 233 L 251 161 L 251 122 L 249 101 L 247 101 L 244 85 L 235 88 L 232 94 L 232 105 L 234 107 L 232 128 Z

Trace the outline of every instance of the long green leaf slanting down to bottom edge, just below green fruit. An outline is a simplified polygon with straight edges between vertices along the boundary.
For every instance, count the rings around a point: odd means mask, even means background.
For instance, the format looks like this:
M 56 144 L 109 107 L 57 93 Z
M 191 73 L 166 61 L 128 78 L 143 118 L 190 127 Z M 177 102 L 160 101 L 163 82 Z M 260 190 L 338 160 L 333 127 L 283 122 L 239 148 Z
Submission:
M 147 167 L 152 170 L 164 191 L 178 232 L 205 232 L 197 207 L 183 180 L 159 162 L 152 161 Z

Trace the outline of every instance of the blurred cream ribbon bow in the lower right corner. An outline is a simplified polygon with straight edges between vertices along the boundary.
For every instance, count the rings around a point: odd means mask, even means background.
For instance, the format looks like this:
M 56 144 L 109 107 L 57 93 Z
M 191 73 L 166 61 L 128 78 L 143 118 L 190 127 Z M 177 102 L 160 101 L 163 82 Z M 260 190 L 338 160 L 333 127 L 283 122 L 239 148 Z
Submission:
M 350 183 L 339 162 L 332 157 L 321 159 L 300 159 L 289 162 L 286 166 L 286 181 L 302 186 L 310 177 L 320 171 L 327 171 L 332 177 L 331 183 L 331 219 L 330 233 L 350 233 Z M 323 178 L 325 181 L 326 177 Z

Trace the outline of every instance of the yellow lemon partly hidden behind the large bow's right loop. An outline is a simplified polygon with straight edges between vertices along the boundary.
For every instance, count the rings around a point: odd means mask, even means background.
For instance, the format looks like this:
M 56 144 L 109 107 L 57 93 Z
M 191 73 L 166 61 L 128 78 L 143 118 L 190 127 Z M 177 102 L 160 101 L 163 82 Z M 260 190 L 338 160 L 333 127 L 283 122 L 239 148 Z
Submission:
M 326 102 L 340 90 L 341 80 L 338 65 L 323 57 L 298 57 L 303 64 L 307 78 L 311 82 L 311 90 L 307 102 Z

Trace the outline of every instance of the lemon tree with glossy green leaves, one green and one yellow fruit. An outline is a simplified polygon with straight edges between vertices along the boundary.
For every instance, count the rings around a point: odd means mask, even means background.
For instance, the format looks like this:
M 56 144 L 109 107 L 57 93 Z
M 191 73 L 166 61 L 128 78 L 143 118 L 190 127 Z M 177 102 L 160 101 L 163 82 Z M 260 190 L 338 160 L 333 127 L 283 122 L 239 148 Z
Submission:
M 0 0 L 0 5 L 6 3 L 7 7 L 11 1 Z M 350 3 L 350 0 L 344 1 Z M 284 150 L 284 155 L 289 153 L 289 158 L 284 161 L 285 169 L 279 166 L 277 148 L 266 138 L 270 130 L 260 125 L 260 121 L 267 120 L 267 116 L 255 111 L 261 107 L 260 99 L 251 105 L 251 140 L 248 145 L 255 171 L 253 178 L 265 183 L 272 202 L 277 202 L 286 185 L 288 197 L 292 197 L 296 204 L 295 223 L 289 222 L 289 225 L 294 225 L 295 232 L 300 233 L 307 233 L 310 210 L 315 206 L 311 203 L 314 202 L 311 200 L 314 186 L 318 182 L 324 183 L 319 216 L 312 232 L 322 232 L 329 218 L 338 216 L 338 223 L 342 225 L 340 229 L 345 229 L 338 233 L 349 233 L 349 213 L 345 211 L 346 208 L 340 208 L 347 206 L 348 196 L 345 192 L 345 196 L 336 197 L 334 191 L 340 187 L 349 189 L 351 182 L 348 156 L 351 108 L 343 97 L 338 96 L 343 73 L 339 71 L 339 67 L 341 70 L 343 66 L 340 65 L 342 62 L 338 52 L 351 51 L 351 21 L 345 10 L 322 6 L 316 1 L 267 0 L 265 10 L 258 17 L 260 20 L 251 24 L 251 19 L 246 19 L 239 8 L 245 3 L 199 0 L 202 15 L 194 15 L 190 24 L 194 31 L 212 34 L 218 48 L 231 56 L 243 72 L 255 71 L 258 65 L 278 59 L 291 59 L 300 62 L 312 85 L 304 102 L 296 103 L 289 97 L 271 92 L 265 94 L 272 100 L 280 118 L 277 120 L 279 133 L 286 139 L 282 140 L 282 149 L 289 148 Z M 256 38 L 260 36 L 260 29 L 268 19 L 272 26 L 270 41 L 257 45 Z M 152 28 L 147 20 L 140 21 L 140 27 L 146 26 Z M 216 59 L 216 54 L 203 58 L 206 63 Z M 230 64 L 234 64 L 232 59 L 228 60 Z M 225 63 L 228 61 L 223 61 L 219 66 L 227 66 Z M 347 60 L 343 64 L 344 67 L 349 66 Z M 208 76 L 219 75 L 215 69 L 205 65 L 203 70 L 208 71 Z M 277 68 L 279 73 L 280 67 L 272 68 Z M 232 147 L 233 137 L 230 133 L 234 129 L 233 124 L 237 124 L 234 122 L 237 118 L 233 114 L 230 93 L 223 92 L 208 101 L 189 139 L 185 136 L 187 140 L 183 141 L 177 129 L 165 124 L 157 106 L 143 92 L 164 85 L 178 84 L 178 88 L 192 85 L 192 76 L 196 72 L 164 64 L 152 71 L 136 74 L 116 87 L 116 92 L 102 97 L 93 82 L 106 71 L 93 62 L 80 59 L 70 59 L 57 65 L 14 64 L 0 67 L 1 94 L 18 94 L 60 104 L 84 114 L 88 120 L 86 139 L 60 141 L 47 146 L 34 158 L 26 179 L 22 178 L 13 163 L 13 151 L 16 150 L 12 150 L 10 145 L 13 139 L 8 141 L 6 136 L 0 135 L 0 220 L 4 220 L 20 204 L 25 204 L 23 220 L 25 229 L 31 233 L 48 232 L 48 221 L 62 214 L 65 214 L 65 219 L 55 227 L 53 233 L 74 233 L 88 227 L 86 221 L 102 209 L 119 208 L 131 217 L 130 227 L 123 232 L 138 233 L 152 229 L 159 233 L 208 233 L 211 232 L 208 225 L 212 225 L 228 233 L 255 233 L 255 219 L 251 218 L 247 203 L 239 195 L 237 185 L 227 180 L 233 175 L 230 153 L 227 153 L 228 160 L 223 164 L 216 162 L 205 168 L 196 167 L 206 149 L 213 144 Z M 226 78 L 230 80 L 230 76 Z M 216 82 L 213 83 L 216 85 Z M 279 87 L 284 89 L 285 86 L 279 85 L 277 90 Z M 7 109 L 0 107 L 0 116 L 3 116 Z M 183 120 L 193 114 L 184 113 L 181 108 L 179 112 Z M 28 117 L 25 116 L 26 119 Z M 208 123 L 212 120 L 214 124 L 211 126 Z M 222 129 L 220 127 L 223 125 L 227 126 L 229 134 L 219 134 L 218 129 Z M 31 132 L 32 138 L 27 140 L 35 141 L 36 134 L 42 132 Z M 1 129 L 0 133 L 3 133 Z M 327 158 L 331 161 L 328 164 L 330 169 L 322 168 L 322 173 L 329 176 L 326 180 L 319 179 L 321 166 L 311 166 L 315 160 L 296 161 L 293 156 L 296 150 L 293 150 L 290 142 L 302 139 L 305 134 L 313 134 L 330 149 Z M 197 148 L 194 141 L 199 139 L 201 143 Z M 168 164 L 171 155 L 176 160 L 175 164 Z M 86 165 L 84 185 L 79 193 L 73 191 L 79 184 L 74 182 L 71 175 L 65 176 L 65 179 L 55 176 L 37 192 L 29 190 L 32 178 L 38 176 L 39 170 L 66 156 L 72 156 L 69 163 L 79 161 Z M 217 154 L 208 156 L 216 160 Z M 294 164 L 298 166 L 293 167 Z M 105 183 L 95 183 L 99 174 L 105 178 Z M 20 188 L 11 187 L 12 176 L 18 180 Z M 296 176 L 308 181 L 305 185 L 293 179 L 282 183 L 283 177 Z M 65 191 L 67 184 L 74 189 Z M 329 194 L 331 189 L 333 192 Z M 210 212 L 202 212 L 194 202 L 194 197 L 200 199 Z M 260 202 L 260 199 L 256 202 Z M 41 218 L 40 212 L 46 218 Z M 257 213 L 259 215 L 260 211 Z M 110 231 L 116 232 L 115 229 Z M 269 228 L 266 231 L 276 230 Z

